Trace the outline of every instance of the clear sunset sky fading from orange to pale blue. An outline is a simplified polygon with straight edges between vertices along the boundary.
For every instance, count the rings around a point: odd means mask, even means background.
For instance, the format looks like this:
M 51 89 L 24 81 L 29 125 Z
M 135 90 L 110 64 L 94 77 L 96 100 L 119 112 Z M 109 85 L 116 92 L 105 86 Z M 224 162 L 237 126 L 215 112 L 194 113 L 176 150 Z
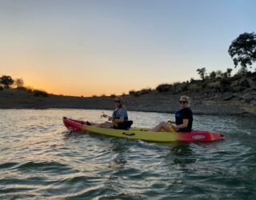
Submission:
M 53 94 L 154 89 L 234 68 L 254 0 L 0 0 L 0 76 Z

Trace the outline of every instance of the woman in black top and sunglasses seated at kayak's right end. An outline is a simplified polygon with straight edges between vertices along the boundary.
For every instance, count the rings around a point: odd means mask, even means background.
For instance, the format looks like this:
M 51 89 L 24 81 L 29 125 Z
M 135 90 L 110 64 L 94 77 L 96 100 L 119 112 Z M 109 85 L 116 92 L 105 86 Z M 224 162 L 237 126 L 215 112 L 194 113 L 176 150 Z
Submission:
M 190 108 L 190 98 L 187 96 L 181 96 L 179 99 L 180 110 L 175 112 L 175 122 L 169 120 L 168 122 L 160 122 L 157 126 L 149 131 L 158 132 L 163 129 L 166 131 L 172 131 L 174 128 L 178 132 L 191 132 L 193 123 L 193 113 Z

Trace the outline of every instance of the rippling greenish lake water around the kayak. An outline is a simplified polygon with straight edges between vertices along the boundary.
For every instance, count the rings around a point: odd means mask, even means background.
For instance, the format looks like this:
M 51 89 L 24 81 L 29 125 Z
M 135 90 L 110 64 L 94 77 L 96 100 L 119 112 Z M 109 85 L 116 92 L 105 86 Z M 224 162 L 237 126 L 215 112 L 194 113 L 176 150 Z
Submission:
M 105 111 L 110 114 L 110 111 Z M 226 140 L 153 143 L 68 134 L 62 116 L 101 110 L 0 110 L 1 199 L 255 199 L 256 118 L 194 116 Z M 130 112 L 134 126 L 171 114 Z

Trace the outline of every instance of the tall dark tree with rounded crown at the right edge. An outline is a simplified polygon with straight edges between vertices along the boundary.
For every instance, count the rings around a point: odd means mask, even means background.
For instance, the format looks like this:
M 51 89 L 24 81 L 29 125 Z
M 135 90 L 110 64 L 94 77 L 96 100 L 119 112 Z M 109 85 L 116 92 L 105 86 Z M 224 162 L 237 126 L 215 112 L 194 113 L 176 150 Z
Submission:
M 238 36 L 229 47 L 229 54 L 236 68 L 238 64 L 242 68 L 252 66 L 256 61 L 256 34 L 243 33 Z

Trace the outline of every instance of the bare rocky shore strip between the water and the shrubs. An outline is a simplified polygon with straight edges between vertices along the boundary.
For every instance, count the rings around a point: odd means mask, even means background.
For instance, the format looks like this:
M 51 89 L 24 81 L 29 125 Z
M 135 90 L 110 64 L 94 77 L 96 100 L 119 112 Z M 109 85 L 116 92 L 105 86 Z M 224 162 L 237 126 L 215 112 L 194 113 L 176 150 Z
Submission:
M 127 110 L 174 113 L 178 110 L 180 95 L 191 97 L 194 114 L 256 116 L 256 90 L 238 92 L 198 92 L 178 94 L 158 93 L 156 90 L 140 96 L 125 95 Z M 0 91 L 0 109 L 98 109 L 112 110 L 114 97 L 71 97 L 49 94 L 36 97 L 23 90 Z

